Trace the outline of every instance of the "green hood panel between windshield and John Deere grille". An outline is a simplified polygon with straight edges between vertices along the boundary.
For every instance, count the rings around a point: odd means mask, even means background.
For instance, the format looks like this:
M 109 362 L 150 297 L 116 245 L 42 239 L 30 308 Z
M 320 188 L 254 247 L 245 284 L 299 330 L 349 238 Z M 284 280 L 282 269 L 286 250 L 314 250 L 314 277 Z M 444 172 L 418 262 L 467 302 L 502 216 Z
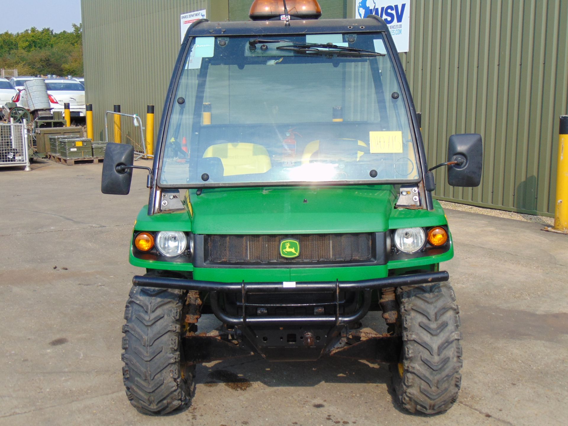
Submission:
M 190 190 L 198 234 L 373 232 L 389 229 L 391 185 Z

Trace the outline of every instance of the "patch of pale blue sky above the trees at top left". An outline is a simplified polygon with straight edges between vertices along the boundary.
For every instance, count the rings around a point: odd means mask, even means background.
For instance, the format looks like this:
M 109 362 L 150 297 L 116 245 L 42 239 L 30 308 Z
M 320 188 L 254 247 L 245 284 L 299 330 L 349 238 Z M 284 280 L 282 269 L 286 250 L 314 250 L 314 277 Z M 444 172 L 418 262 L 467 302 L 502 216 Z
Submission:
M 0 33 L 22 32 L 31 27 L 72 31 L 71 24 L 81 23 L 81 0 L 26 0 L 14 9 L 7 7 L 5 12 L 8 10 L 19 12 L 0 14 Z

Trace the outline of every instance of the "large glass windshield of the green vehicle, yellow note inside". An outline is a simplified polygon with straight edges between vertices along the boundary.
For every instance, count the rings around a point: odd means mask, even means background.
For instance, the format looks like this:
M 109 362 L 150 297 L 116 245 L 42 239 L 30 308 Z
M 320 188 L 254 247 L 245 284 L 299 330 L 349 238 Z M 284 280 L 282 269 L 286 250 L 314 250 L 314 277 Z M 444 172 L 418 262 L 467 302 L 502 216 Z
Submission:
M 160 183 L 416 182 L 400 93 L 380 34 L 195 37 Z

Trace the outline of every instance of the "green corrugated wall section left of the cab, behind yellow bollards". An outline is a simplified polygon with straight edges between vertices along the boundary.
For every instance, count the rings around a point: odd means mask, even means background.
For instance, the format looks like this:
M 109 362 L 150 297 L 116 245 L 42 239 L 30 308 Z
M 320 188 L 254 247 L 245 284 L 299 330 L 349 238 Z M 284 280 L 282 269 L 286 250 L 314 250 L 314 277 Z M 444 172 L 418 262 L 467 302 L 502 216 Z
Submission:
M 114 104 L 143 122 L 146 106 L 155 105 L 157 131 L 179 52 L 179 15 L 202 9 L 211 20 L 228 18 L 227 0 L 81 1 L 86 101 L 93 104 L 95 139 L 104 139 L 105 111 Z

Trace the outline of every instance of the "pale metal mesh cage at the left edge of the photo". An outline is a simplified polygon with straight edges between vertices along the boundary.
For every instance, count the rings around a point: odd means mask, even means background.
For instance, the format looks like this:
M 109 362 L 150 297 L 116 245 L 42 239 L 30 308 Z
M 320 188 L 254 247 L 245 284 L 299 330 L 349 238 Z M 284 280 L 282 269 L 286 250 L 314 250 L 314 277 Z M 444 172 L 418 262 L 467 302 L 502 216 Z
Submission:
M 0 167 L 12 166 L 31 170 L 26 120 L 20 124 L 0 123 Z

